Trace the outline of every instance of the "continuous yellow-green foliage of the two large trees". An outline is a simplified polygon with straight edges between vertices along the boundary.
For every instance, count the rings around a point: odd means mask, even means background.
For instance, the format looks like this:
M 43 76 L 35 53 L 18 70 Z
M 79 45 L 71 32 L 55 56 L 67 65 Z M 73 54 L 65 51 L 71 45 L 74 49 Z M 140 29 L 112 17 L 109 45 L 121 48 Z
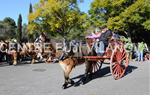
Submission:
M 54 37 L 79 39 L 87 28 L 107 25 L 143 40 L 143 31 L 150 31 L 150 0 L 93 0 L 89 15 L 79 10 L 78 1 L 40 0 L 34 11 L 30 4 L 29 33 L 49 32 Z

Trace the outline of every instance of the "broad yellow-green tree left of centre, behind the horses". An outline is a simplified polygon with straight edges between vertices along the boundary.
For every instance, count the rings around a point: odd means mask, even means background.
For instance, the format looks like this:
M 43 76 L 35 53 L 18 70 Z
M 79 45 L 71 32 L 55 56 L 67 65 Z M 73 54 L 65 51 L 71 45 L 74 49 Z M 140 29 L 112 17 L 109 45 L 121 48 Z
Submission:
M 86 17 L 80 12 L 77 0 L 40 0 L 35 5 L 35 11 L 29 14 L 28 19 L 32 23 L 28 29 L 68 38 L 72 33 L 76 35 L 76 31 L 77 34 L 83 33 Z

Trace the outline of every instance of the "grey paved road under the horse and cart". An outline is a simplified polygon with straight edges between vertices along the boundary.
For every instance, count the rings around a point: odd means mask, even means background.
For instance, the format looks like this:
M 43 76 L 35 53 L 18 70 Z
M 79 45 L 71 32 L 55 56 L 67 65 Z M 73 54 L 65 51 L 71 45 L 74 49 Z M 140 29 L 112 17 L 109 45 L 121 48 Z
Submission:
M 71 77 L 75 81 L 85 66 L 77 66 Z M 85 85 L 63 90 L 63 72 L 58 64 L 0 65 L 0 95 L 150 95 L 150 61 L 130 62 L 128 74 L 114 80 L 109 66 Z

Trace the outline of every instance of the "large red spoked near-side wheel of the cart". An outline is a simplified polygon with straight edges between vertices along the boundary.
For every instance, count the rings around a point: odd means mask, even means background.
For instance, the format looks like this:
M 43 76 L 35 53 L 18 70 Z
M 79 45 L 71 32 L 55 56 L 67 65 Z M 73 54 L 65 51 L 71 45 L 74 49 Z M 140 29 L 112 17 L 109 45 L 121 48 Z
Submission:
M 114 79 L 117 80 L 124 76 L 128 64 L 129 58 L 125 49 L 123 47 L 115 47 L 110 59 L 110 71 Z

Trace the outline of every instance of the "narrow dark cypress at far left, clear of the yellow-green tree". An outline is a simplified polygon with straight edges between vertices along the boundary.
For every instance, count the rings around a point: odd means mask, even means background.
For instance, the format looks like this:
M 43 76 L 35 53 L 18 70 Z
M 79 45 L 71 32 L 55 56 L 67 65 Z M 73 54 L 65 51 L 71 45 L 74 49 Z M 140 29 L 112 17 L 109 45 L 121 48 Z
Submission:
M 18 25 L 17 25 L 18 41 L 21 42 L 22 39 L 22 16 L 19 14 Z

